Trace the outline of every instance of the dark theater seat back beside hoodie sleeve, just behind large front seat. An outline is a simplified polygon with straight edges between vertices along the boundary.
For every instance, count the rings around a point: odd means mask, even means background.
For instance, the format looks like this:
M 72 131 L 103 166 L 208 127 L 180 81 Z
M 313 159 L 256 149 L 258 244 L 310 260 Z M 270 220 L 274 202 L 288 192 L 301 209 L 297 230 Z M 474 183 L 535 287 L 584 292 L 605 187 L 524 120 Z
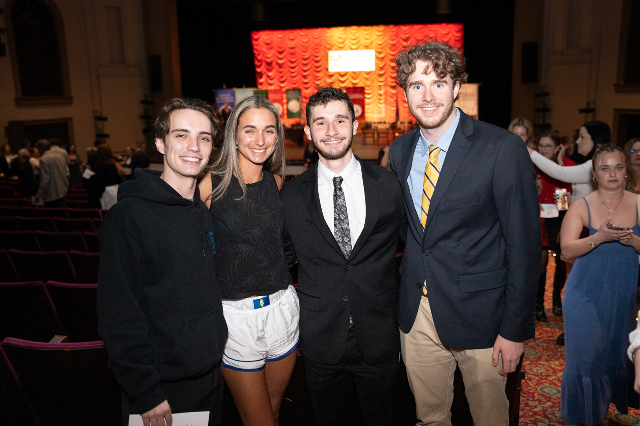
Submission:
M 48 281 L 47 291 L 71 342 L 100 340 L 96 310 L 97 284 Z

